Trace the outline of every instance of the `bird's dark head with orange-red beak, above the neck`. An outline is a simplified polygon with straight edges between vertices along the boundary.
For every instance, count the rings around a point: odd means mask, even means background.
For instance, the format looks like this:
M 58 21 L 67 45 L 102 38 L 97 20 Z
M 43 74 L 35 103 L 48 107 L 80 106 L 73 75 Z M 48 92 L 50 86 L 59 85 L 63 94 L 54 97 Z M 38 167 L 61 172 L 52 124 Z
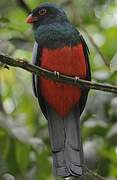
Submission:
M 68 21 L 65 12 L 54 4 L 43 4 L 35 8 L 27 18 L 27 23 L 37 27 L 52 22 Z

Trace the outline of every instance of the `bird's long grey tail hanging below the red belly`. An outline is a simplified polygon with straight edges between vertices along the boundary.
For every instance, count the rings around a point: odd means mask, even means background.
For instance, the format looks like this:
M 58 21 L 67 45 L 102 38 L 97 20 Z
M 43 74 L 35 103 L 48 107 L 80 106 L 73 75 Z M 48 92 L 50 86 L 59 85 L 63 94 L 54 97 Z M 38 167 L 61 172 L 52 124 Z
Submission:
M 84 180 L 84 158 L 80 137 L 80 112 L 75 108 L 61 119 L 50 107 L 48 126 L 53 152 L 53 170 L 56 176 L 79 177 Z

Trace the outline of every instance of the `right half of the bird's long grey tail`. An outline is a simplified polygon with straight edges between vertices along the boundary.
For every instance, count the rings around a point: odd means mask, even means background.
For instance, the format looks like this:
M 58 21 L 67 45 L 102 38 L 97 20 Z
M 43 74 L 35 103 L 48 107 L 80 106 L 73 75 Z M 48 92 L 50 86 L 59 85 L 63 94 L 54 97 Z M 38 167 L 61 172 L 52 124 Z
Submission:
M 80 137 L 80 111 L 77 107 L 64 120 L 66 143 L 65 159 L 66 166 L 72 176 L 82 176 L 84 174 L 84 160 Z

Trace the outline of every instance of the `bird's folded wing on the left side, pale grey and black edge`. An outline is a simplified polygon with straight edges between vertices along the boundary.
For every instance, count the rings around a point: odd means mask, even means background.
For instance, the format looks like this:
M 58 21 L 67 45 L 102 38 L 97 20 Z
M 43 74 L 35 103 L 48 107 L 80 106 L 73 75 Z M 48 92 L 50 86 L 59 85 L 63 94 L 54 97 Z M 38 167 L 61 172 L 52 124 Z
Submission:
M 35 42 L 34 48 L 33 48 L 33 57 L 32 57 L 32 62 L 34 65 L 39 66 L 40 65 L 40 59 L 41 59 L 41 53 L 42 53 L 42 48 L 38 43 Z M 33 74 L 32 80 L 33 80 L 33 91 L 35 96 L 38 98 L 41 110 L 44 114 L 44 116 L 47 119 L 47 111 L 46 111 L 46 103 L 41 96 L 40 90 L 39 90 L 39 85 L 38 85 L 38 80 L 37 76 Z

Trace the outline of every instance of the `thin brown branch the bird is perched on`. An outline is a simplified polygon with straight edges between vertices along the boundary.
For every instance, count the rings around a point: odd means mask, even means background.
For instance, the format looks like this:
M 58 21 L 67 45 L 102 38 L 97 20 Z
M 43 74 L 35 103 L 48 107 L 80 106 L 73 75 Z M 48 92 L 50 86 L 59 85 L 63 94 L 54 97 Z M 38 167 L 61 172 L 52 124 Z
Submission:
M 1 66 L 2 64 L 5 64 L 5 65 L 14 66 L 14 67 L 19 67 L 31 73 L 34 73 L 38 76 L 44 76 L 44 77 L 47 77 L 48 79 L 51 79 L 57 82 L 62 82 L 64 84 L 80 86 L 81 88 L 95 89 L 95 90 L 117 94 L 117 86 L 96 83 L 96 82 L 89 82 L 83 79 L 70 77 L 63 74 L 60 74 L 58 77 L 58 75 L 55 75 L 54 72 L 32 65 L 28 61 L 23 60 L 23 59 L 13 59 L 12 57 L 0 54 L 0 61 L 1 61 Z

